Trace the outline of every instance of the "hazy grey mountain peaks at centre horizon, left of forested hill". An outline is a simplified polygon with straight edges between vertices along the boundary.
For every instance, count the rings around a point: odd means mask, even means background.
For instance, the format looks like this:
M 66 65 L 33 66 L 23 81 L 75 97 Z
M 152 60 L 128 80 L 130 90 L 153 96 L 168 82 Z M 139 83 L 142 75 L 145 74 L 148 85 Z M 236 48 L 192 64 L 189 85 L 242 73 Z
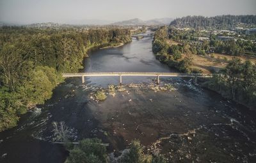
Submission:
M 173 18 L 154 18 L 150 20 L 141 20 L 139 18 L 132 18 L 122 22 L 115 22 L 111 25 L 168 25 Z

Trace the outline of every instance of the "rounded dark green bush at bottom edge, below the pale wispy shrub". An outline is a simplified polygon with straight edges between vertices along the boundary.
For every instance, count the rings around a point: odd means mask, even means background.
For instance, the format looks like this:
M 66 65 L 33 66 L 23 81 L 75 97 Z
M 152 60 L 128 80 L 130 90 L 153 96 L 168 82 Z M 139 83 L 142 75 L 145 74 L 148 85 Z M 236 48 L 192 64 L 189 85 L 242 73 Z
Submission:
M 83 139 L 74 146 L 67 157 L 66 163 L 100 163 L 107 162 L 106 146 L 97 138 Z

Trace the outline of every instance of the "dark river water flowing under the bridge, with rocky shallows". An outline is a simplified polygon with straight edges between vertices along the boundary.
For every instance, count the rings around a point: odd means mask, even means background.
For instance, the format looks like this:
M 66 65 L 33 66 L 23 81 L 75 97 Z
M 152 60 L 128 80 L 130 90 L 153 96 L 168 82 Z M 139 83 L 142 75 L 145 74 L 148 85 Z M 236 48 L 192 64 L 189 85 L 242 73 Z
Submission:
M 146 32 L 148 36 L 150 32 Z M 152 53 L 152 38 L 132 39 L 116 48 L 90 52 L 85 72 L 175 72 Z M 123 77 L 123 83 L 154 83 L 150 77 Z M 0 162 L 64 162 L 68 153 L 54 139 L 52 122 L 65 122 L 73 141 L 100 138 L 108 152 L 122 151 L 140 139 L 149 153 L 170 162 L 256 162 L 256 113 L 193 85 L 189 78 L 161 78 L 172 92 L 125 87 L 97 103 L 96 87 L 117 85 L 118 77 L 68 78 L 52 98 L 0 133 Z M 118 152 L 115 152 L 118 155 Z

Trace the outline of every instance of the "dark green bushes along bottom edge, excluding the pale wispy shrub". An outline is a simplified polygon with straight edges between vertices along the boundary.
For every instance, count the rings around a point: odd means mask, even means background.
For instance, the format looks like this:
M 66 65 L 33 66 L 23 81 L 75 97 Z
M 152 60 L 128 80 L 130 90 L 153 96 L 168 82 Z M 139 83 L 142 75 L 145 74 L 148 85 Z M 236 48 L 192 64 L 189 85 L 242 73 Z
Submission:
M 125 150 L 117 159 L 108 156 L 106 145 L 97 138 L 83 139 L 78 145 L 67 143 L 66 148 L 70 151 L 65 163 L 106 163 L 106 162 L 127 162 L 127 163 L 166 163 L 166 159 L 162 155 L 150 155 L 144 153 L 143 146 L 140 141 L 134 140 L 129 146 L 129 150 Z

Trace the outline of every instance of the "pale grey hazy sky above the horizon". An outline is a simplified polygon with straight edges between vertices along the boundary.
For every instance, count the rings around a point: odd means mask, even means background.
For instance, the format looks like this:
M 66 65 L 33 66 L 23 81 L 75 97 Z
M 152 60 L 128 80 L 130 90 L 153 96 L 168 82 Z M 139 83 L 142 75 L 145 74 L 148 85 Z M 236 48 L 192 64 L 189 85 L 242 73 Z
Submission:
M 256 15 L 256 0 L 0 0 L 0 21 L 22 24 L 223 14 Z

